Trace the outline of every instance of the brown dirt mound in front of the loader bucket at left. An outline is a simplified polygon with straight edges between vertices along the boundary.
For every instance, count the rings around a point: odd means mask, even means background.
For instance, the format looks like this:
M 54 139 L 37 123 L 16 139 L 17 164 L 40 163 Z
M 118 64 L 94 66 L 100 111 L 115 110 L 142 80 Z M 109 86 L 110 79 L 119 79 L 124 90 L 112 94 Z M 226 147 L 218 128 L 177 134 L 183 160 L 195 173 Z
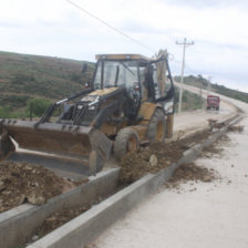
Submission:
M 0 213 L 22 203 L 45 204 L 49 198 L 74 187 L 53 172 L 32 164 L 0 163 Z

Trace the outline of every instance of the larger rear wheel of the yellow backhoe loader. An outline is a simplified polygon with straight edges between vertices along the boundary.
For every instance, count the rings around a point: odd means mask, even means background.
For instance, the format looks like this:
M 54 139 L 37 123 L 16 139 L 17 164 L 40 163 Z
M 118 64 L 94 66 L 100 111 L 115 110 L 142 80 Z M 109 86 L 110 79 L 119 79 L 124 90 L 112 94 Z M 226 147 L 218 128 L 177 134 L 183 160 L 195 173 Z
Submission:
M 166 135 L 165 114 L 162 108 L 156 108 L 147 127 L 149 142 L 163 142 Z

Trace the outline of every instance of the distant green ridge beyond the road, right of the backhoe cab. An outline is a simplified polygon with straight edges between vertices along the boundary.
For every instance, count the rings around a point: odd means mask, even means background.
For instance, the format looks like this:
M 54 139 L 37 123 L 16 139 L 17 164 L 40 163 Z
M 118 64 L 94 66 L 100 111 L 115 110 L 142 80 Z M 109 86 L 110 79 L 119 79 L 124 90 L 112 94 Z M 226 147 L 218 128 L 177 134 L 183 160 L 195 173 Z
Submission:
M 179 76 L 175 76 L 175 80 L 177 82 L 179 82 L 180 78 Z M 208 80 L 204 79 L 202 75 L 198 76 L 194 76 L 194 75 L 188 75 L 184 78 L 184 83 L 185 84 L 189 84 L 196 87 L 202 87 L 203 90 L 207 90 L 208 87 L 208 83 L 210 84 L 210 91 L 214 91 L 216 93 L 226 95 L 228 97 L 232 97 L 232 99 L 237 99 L 240 100 L 242 102 L 248 103 L 248 93 L 245 92 L 240 92 L 237 90 L 231 90 L 228 89 L 224 85 L 219 85 L 219 84 L 213 84 L 210 82 L 208 82 Z

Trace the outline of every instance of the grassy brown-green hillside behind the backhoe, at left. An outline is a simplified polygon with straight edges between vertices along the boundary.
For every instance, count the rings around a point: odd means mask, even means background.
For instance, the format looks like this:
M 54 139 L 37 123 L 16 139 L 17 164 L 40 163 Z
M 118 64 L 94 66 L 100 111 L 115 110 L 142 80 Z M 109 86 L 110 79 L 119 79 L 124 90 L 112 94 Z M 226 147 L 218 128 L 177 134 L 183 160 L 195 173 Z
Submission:
M 0 106 L 22 112 L 32 97 L 51 101 L 82 90 L 94 63 L 82 73 L 83 61 L 0 52 Z M 0 111 L 1 112 L 1 111 Z

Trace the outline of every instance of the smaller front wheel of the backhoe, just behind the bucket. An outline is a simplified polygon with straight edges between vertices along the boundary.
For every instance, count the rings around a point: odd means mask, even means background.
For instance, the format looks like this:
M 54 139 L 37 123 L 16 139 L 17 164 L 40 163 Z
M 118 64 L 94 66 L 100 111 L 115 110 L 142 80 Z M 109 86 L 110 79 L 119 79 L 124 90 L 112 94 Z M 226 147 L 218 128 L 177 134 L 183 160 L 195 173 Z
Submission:
M 114 143 L 114 156 L 121 159 L 124 154 L 135 153 L 140 145 L 138 134 L 131 127 L 118 131 Z

